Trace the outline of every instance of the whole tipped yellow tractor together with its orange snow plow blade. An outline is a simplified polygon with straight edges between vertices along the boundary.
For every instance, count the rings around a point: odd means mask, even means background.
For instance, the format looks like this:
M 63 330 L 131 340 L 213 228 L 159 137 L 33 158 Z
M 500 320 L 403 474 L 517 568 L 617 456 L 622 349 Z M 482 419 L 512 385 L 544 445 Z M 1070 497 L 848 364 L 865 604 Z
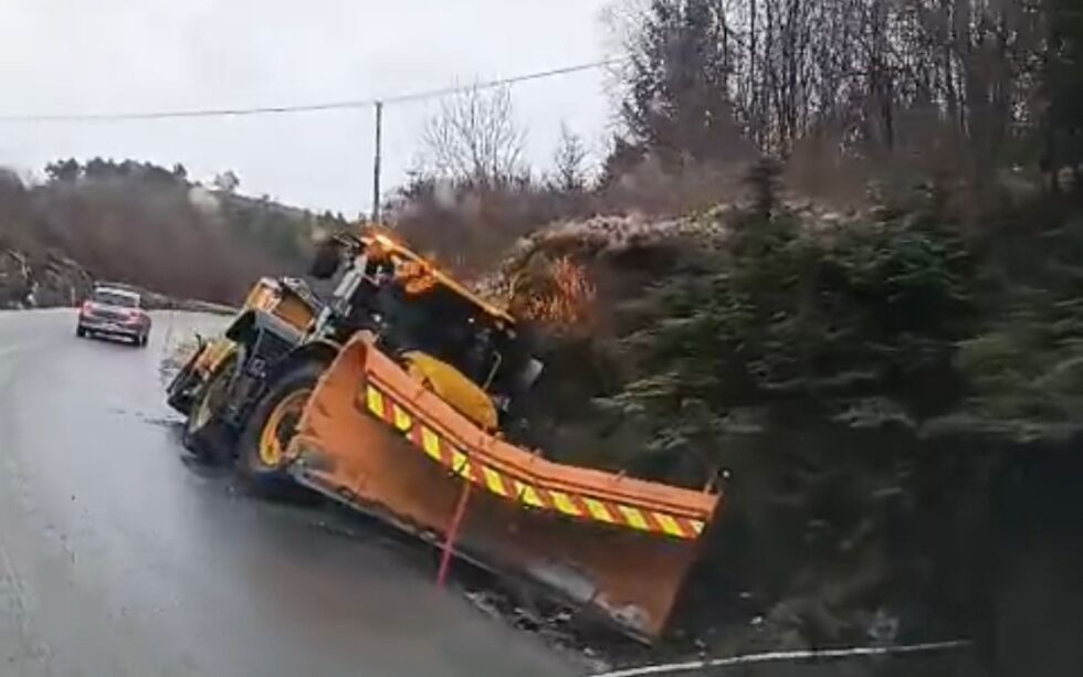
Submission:
M 186 445 L 658 638 L 721 496 L 532 448 L 517 412 L 544 367 L 525 332 L 392 232 L 336 235 L 311 273 L 337 279 L 328 299 L 262 279 L 200 340 L 167 392 Z

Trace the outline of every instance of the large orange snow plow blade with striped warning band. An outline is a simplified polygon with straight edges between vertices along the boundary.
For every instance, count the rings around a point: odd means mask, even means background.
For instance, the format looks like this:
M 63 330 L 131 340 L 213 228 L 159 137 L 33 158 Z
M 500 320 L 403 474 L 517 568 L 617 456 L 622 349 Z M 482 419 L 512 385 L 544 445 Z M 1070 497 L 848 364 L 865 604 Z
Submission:
M 325 372 L 291 448 L 302 484 L 429 541 L 450 536 L 459 557 L 644 641 L 664 631 L 719 503 L 508 444 L 360 337 Z

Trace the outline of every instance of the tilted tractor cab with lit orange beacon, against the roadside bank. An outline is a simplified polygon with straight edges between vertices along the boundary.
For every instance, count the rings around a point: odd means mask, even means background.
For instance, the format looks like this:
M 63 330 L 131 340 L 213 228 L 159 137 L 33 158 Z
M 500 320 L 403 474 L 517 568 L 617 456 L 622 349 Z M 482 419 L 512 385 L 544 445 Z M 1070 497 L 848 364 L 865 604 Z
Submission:
M 317 335 L 345 342 L 370 331 L 379 349 L 483 429 L 501 427 L 542 371 L 511 315 L 383 230 L 335 236 L 311 273 L 340 275 Z

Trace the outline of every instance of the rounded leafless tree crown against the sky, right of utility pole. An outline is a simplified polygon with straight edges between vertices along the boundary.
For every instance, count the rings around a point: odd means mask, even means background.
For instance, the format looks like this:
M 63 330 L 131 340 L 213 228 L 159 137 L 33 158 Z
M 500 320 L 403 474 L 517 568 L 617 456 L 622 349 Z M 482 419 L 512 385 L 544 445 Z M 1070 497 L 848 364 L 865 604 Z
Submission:
M 475 87 L 441 104 L 422 141 L 435 174 L 496 187 L 521 173 L 525 138 L 511 91 Z

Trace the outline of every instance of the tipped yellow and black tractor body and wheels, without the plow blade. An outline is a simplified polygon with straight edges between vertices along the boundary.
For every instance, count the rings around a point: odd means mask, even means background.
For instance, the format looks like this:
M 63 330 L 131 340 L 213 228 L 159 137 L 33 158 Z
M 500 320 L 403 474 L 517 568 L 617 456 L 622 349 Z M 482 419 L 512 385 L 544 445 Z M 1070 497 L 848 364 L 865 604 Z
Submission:
M 280 440 L 358 331 L 376 336 L 410 373 L 487 430 L 522 390 L 517 377 L 539 371 L 509 315 L 385 230 L 335 236 L 311 272 L 338 277 L 327 303 L 299 281 L 261 281 L 224 335 L 201 341 L 168 389 L 170 405 L 188 416 L 186 444 L 235 461 L 256 488 L 290 484 Z

